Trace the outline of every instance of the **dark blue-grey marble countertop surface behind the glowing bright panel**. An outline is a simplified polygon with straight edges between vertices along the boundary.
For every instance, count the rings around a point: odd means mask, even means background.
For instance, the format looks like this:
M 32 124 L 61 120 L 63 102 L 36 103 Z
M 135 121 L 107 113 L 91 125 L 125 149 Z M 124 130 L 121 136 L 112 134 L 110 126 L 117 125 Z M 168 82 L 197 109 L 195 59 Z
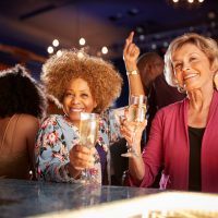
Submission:
M 158 192 L 154 189 L 1 179 L 0 217 L 34 217 L 69 209 L 73 211 Z

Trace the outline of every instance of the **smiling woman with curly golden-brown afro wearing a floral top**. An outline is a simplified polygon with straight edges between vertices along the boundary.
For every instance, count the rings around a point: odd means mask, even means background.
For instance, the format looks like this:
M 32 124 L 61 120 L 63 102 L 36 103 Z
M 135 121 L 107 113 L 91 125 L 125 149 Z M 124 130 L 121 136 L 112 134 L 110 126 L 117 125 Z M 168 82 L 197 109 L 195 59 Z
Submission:
M 77 182 L 83 170 L 98 183 L 108 184 L 109 143 L 118 132 L 109 130 L 104 111 L 120 96 L 122 77 L 114 66 L 82 50 L 62 50 L 43 66 L 41 81 L 47 94 L 53 96 L 64 116 L 51 114 L 43 123 L 37 143 L 36 157 L 39 178 L 55 182 Z M 95 148 L 78 145 L 81 112 L 101 116 L 99 137 Z

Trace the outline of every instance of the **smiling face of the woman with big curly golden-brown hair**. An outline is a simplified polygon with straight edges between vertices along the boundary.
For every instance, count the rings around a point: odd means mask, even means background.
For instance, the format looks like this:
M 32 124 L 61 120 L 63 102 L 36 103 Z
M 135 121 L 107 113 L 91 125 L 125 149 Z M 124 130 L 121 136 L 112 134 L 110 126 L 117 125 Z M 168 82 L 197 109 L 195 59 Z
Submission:
M 80 123 L 81 112 L 93 112 L 97 106 L 87 82 L 83 78 L 70 81 L 62 104 L 64 113 L 75 125 Z

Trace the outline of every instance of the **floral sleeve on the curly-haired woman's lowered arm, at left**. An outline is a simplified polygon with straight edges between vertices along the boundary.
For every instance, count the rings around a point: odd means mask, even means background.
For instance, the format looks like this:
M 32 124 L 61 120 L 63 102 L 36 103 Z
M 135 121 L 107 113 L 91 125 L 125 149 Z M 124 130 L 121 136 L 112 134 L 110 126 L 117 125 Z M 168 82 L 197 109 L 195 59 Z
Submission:
M 56 182 L 71 180 L 66 170 L 69 148 L 55 116 L 41 124 L 35 152 L 37 172 L 41 179 Z

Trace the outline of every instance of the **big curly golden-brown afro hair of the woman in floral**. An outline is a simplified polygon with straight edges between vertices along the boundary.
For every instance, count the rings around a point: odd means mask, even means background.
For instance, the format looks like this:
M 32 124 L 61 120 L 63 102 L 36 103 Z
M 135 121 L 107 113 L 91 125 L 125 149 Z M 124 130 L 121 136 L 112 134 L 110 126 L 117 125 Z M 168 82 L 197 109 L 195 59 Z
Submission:
M 52 56 L 43 65 L 41 81 L 47 93 L 61 105 L 65 87 L 74 78 L 87 82 L 97 102 L 94 112 L 102 112 L 120 96 L 122 77 L 110 62 L 101 58 L 76 49 L 62 50 L 61 56 Z

